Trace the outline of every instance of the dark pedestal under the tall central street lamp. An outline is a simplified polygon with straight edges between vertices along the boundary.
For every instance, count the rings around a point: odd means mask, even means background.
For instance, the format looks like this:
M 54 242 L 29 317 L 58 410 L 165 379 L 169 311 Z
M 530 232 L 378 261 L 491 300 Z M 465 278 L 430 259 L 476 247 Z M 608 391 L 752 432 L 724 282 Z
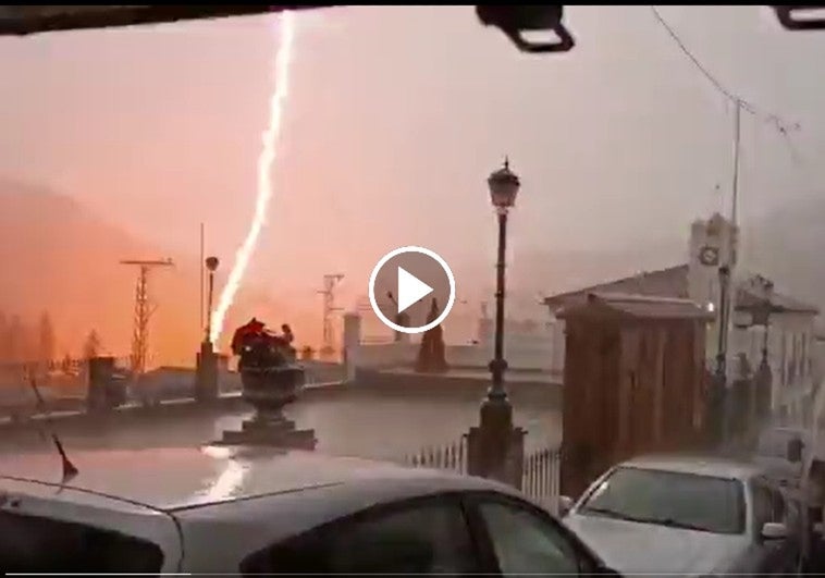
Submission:
M 508 399 L 485 399 L 467 440 L 467 472 L 521 489 L 526 430 L 513 426 Z

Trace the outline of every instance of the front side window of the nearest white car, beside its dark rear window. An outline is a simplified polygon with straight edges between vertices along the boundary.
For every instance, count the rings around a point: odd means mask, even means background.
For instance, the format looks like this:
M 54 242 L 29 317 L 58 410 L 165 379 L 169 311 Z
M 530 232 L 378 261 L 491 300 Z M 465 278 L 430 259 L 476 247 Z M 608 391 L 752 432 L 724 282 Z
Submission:
M 577 575 L 579 556 L 557 526 L 513 503 L 483 502 L 479 513 L 505 576 Z

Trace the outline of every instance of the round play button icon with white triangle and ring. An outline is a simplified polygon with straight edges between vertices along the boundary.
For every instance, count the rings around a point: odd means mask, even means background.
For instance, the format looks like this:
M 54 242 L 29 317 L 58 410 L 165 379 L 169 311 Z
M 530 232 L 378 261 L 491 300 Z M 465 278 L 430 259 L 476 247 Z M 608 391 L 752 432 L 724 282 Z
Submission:
M 378 318 L 401 333 L 439 325 L 455 303 L 455 278 L 446 261 L 423 247 L 401 247 L 372 270 L 369 298 Z

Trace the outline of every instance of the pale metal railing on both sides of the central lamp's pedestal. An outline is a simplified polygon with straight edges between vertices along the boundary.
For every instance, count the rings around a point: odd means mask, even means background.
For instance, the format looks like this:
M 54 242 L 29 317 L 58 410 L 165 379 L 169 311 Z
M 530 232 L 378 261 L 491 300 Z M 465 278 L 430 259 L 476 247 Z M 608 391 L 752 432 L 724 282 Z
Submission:
M 441 446 L 424 446 L 401 462 L 414 468 L 433 468 L 467 474 L 467 435 Z M 525 455 L 521 468 L 521 492 L 551 512 L 558 504 L 562 453 L 545 447 Z

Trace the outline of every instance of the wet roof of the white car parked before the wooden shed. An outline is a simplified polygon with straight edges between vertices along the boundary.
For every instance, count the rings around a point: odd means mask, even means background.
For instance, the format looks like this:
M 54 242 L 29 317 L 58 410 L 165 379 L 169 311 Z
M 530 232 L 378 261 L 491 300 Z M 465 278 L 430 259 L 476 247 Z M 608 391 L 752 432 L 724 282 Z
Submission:
M 764 470 L 746 460 L 704 454 L 653 454 L 635 457 L 624 462 L 619 467 L 657 469 L 712 476 L 747 481 L 764 475 Z

